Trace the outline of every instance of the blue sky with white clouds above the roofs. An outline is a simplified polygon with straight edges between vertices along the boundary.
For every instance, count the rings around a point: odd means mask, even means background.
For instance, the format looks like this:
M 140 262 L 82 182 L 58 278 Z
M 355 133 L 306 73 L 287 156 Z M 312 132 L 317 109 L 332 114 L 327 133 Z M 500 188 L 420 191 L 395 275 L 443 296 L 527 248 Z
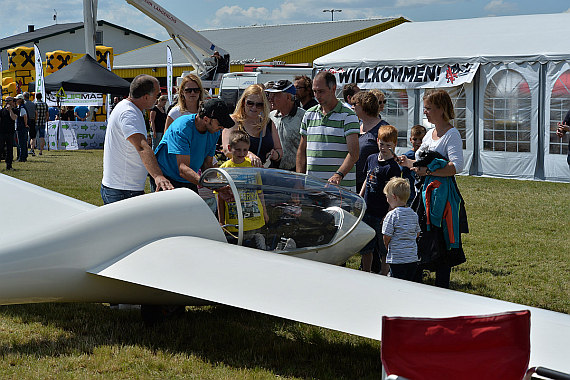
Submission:
M 250 25 L 276 25 L 331 20 L 403 16 L 411 21 L 433 21 L 488 16 L 570 12 L 568 0 L 159 0 L 163 8 L 196 30 Z M 82 0 L 36 2 L 0 0 L 7 10 L 0 21 L 0 38 L 57 23 L 83 21 Z M 165 30 L 125 0 L 99 0 L 97 18 L 159 40 Z M 532 27 L 532 26 L 529 26 Z

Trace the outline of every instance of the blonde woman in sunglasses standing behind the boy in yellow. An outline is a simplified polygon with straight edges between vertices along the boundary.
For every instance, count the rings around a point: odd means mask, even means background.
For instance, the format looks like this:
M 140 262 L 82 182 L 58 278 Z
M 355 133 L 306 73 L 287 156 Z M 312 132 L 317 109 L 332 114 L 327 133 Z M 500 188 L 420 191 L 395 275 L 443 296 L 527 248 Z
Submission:
M 226 157 L 231 158 L 231 153 L 228 151 L 230 132 L 239 129 L 249 135 L 247 156 L 253 166 L 261 167 L 270 160 L 271 167 L 279 167 L 278 162 L 283 156 L 283 149 L 277 128 L 269 119 L 269 101 L 263 87 L 252 84 L 246 88 L 231 116 L 236 125 L 222 131 L 222 147 Z

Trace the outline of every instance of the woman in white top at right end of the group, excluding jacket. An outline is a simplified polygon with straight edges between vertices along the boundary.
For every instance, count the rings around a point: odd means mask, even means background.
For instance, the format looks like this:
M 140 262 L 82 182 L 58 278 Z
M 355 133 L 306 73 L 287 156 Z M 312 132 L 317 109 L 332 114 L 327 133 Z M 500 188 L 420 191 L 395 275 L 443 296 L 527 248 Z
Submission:
M 436 151 L 449 162 L 445 167 L 434 170 L 433 172 L 425 166 L 414 167 L 413 164 L 415 160 L 410 160 L 406 156 L 398 157 L 398 163 L 410 168 L 422 177 L 426 175 L 435 177 L 453 177 L 455 174 L 460 173 L 463 170 L 463 142 L 459 131 L 450 123 L 450 120 L 455 118 L 453 103 L 449 94 L 444 90 L 435 90 L 427 93 L 423 100 L 424 114 L 428 121 L 435 125 L 435 128 L 430 129 L 425 135 L 421 147 L 416 152 L 416 160 L 419 159 L 420 152 Z M 425 214 L 423 207 L 421 210 Z M 420 213 L 419 209 L 418 213 Z M 421 220 L 422 216 L 419 216 Z M 436 245 L 437 244 L 432 244 L 431 246 L 434 247 Z M 450 260 L 448 253 L 444 253 L 439 256 L 434 265 L 431 266 L 432 268 L 435 268 L 436 286 L 449 288 L 451 266 L 465 261 L 463 250 L 461 248 L 458 248 L 458 250 L 458 256 L 456 257 L 459 258 L 456 261 L 453 261 L 455 260 L 455 256 L 453 260 Z M 421 275 L 421 271 L 419 272 Z

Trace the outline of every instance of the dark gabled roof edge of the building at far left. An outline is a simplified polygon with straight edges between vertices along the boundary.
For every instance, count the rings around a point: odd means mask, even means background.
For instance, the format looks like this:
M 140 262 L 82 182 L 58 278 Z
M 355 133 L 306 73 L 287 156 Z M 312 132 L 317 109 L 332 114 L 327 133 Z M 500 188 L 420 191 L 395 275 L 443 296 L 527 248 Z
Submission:
M 117 28 L 117 29 L 120 29 L 120 30 L 123 30 L 123 31 L 127 31 L 127 32 L 134 34 L 134 35 L 137 35 L 139 37 L 146 38 L 150 42 L 159 42 L 155 38 L 145 36 L 144 34 L 141 34 L 141 33 L 135 32 L 133 30 L 124 28 L 122 26 L 110 23 L 108 21 L 105 21 L 105 20 L 98 20 L 97 21 L 97 25 L 99 25 L 99 26 L 102 26 L 104 24 L 109 25 L 109 26 L 114 27 L 114 28 Z M 13 35 L 10 37 L 0 39 L 0 50 L 6 50 L 6 49 L 14 48 L 17 46 L 23 46 L 23 45 L 26 45 L 29 43 L 33 43 L 35 41 L 40 41 L 40 40 L 48 38 L 48 37 L 57 36 L 58 34 L 63 34 L 63 33 L 69 33 L 71 31 L 82 29 L 82 28 L 83 28 L 83 22 L 54 24 L 54 25 L 43 27 L 43 28 L 38 28 L 38 29 L 34 30 L 33 32 L 20 33 L 20 34 L 16 34 L 16 35 Z

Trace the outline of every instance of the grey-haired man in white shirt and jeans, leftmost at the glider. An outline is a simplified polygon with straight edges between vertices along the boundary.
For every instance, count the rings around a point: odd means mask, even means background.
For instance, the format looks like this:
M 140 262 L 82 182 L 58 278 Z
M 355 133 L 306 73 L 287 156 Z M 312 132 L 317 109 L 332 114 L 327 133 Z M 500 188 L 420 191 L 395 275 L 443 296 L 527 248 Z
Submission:
M 103 203 L 144 194 L 147 174 L 154 179 L 157 191 L 173 189 L 146 140 L 143 112 L 153 107 L 159 95 L 158 80 L 150 75 L 139 75 L 131 82 L 129 97 L 113 109 L 103 152 Z

